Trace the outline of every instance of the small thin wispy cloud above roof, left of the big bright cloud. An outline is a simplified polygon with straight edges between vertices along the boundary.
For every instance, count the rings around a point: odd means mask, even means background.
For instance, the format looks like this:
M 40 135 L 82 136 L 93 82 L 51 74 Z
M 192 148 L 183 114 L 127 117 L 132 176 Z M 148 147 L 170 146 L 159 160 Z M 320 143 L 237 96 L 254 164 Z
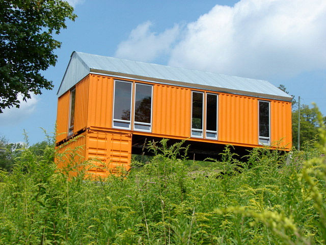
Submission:
M 160 34 L 150 31 L 152 22 L 147 21 L 133 29 L 126 41 L 118 45 L 116 57 L 137 61 L 152 61 L 157 56 L 171 51 L 172 44 L 179 34 L 179 25 Z

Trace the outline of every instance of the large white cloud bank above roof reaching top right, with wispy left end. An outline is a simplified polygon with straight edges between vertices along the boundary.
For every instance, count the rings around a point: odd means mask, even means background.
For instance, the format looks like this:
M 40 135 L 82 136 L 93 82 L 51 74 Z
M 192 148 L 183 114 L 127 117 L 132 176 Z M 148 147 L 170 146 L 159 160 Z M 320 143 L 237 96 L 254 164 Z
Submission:
M 185 28 L 153 33 L 140 24 L 116 56 L 251 78 L 326 68 L 326 1 L 241 0 L 216 5 Z

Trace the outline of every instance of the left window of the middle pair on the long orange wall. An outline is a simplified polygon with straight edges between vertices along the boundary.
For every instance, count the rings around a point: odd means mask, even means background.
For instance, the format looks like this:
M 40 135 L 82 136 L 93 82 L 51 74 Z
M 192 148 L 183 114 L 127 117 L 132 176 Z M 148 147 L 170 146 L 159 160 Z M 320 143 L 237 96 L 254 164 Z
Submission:
M 192 136 L 203 137 L 203 93 L 193 92 L 192 96 Z

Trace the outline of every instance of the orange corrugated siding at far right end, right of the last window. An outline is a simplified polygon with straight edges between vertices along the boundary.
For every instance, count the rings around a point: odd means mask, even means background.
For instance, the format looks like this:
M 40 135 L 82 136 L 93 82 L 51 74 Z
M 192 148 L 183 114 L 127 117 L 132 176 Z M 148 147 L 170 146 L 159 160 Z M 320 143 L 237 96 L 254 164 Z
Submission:
M 271 101 L 271 144 L 290 149 L 292 147 L 291 103 Z

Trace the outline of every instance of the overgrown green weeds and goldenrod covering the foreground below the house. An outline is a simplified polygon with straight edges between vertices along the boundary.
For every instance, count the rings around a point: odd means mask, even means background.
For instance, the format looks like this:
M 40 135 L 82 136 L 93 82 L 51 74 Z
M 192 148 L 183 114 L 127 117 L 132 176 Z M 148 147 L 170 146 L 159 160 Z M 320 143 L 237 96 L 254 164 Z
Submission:
M 23 145 L 0 172 L 0 244 L 324 244 L 324 124 L 319 133 L 303 151 L 254 149 L 242 162 L 230 147 L 199 164 L 182 143 L 150 143 L 147 164 L 102 181 L 67 178 L 52 144 L 39 155 Z

